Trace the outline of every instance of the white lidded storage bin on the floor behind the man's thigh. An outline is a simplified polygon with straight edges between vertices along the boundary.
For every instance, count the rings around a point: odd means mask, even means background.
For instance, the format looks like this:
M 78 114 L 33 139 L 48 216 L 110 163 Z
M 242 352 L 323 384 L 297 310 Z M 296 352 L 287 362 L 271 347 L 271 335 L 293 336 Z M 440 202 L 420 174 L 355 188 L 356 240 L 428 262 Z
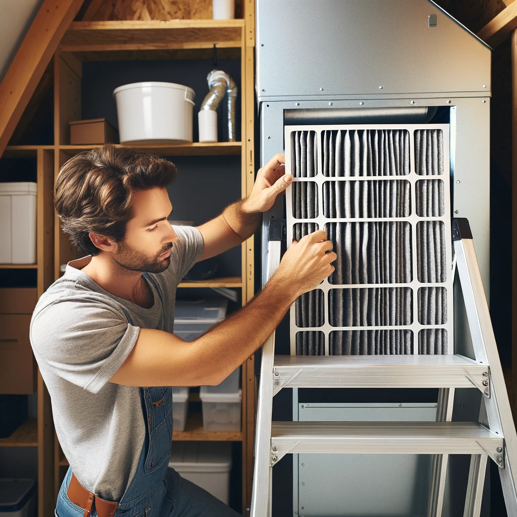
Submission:
M 169 467 L 228 504 L 232 448 L 230 443 L 173 442 Z

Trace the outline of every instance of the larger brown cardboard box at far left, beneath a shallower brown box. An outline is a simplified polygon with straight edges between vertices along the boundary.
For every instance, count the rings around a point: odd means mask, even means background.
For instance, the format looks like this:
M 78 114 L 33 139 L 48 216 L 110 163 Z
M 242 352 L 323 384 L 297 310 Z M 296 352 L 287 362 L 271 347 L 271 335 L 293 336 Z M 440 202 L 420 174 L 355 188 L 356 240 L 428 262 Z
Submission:
M 0 314 L 0 393 L 31 394 L 37 389 L 30 324 L 31 314 Z

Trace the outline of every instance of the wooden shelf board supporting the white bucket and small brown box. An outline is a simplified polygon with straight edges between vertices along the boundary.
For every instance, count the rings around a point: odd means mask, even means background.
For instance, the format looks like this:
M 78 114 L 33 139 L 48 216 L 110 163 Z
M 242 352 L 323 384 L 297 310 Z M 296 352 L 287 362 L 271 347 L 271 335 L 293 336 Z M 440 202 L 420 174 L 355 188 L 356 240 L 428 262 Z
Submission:
M 73 156 L 84 150 L 102 147 L 99 145 L 60 145 L 59 150 Z M 121 146 L 124 147 L 124 146 Z M 240 155 L 242 145 L 240 142 L 193 142 L 191 144 L 178 145 L 137 145 L 139 151 L 163 156 L 220 156 Z

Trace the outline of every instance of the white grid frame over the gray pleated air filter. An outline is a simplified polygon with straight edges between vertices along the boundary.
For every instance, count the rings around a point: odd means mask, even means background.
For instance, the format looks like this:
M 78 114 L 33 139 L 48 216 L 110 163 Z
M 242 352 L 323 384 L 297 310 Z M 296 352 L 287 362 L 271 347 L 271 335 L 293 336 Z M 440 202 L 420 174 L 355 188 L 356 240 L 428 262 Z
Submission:
M 407 130 L 409 132 L 409 174 L 397 176 L 339 176 L 323 175 L 322 132 L 328 130 Z M 421 129 L 441 129 L 443 131 L 443 174 L 420 175 L 415 172 L 415 131 Z M 296 325 L 296 303 L 290 310 L 291 355 L 296 355 L 296 333 L 299 331 L 321 331 L 325 336 L 325 355 L 329 355 L 329 334 L 339 330 L 411 330 L 413 332 L 412 355 L 418 354 L 418 333 L 423 329 L 440 329 L 447 331 L 447 355 L 454 354 L 454 320 L 453 320 L 453 270 L 452 270 L 452 236 L 450 204 L 450 147 L 449 124 L 351 124 L 351 125 L 298 125 L 285 126 L 285 171 L 294 172 L 292 163 L 291 133 L 297 131 L 315 131 L 317 141 L 317 173 L 313 177 L 295 177 L 297 182 L 313 182 L 317 186 L 317 215 L 313 219 L 298 219 L 293 216 L 293 187 L 286 190 L 287 243 L 293 241 L 293 228 L 297 223 L 316 223 L 318 230 L 324 230 L 325 224 L 335 222 L 409 222 L 411 231 L 412 281 L 409 283 L 375 283 L 375 284 L 331 284 L 326 278 L 317 289 L 324 293 L 324 324 L 321 327 L 298 327 Z M 294 174 L 293 174 L 294 176 Z M 444 214 L 438 217 L 420 217 L 416 214 L 416 182 L 422 179 L 441 179 L 444 184 Z M 407 180 L 410 184 L 410 212 L 408 217 L 371 217 L 371 218 L 326 218 L 323 211 L 323 184 L 327 181 L 363 181 L 363 180 Z M 421 221 L 442 221 L 445 226 L 446 280 L 445 282 L 421 282 L 418 280 L 417 268 L 417 223 Z M 328 293 L 331 289 L 409 287 L 412 290 L 412 316 L 410 325 L 393 326 L 355 326 L 332 327 L 329 325 Z M 418 321 L 418 290 L 420 287 L 445 287 L 447 293 L 447 321 L 441 325 L 422 325 Z

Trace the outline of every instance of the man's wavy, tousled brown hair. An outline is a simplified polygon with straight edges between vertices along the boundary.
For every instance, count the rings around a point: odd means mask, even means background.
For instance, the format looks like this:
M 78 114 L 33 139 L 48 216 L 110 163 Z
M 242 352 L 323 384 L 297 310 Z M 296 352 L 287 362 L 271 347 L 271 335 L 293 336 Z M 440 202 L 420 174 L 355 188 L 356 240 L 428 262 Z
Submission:
M 175 177 L 172 162 L 131 147 L 106 144 L 75 155 L 56 180 L 54 205 L 61 227 L 79 250 L 97 255 L 100 250 L 88 232 L 123 240 L 133 217 L 133 191 L 166 187 Z

